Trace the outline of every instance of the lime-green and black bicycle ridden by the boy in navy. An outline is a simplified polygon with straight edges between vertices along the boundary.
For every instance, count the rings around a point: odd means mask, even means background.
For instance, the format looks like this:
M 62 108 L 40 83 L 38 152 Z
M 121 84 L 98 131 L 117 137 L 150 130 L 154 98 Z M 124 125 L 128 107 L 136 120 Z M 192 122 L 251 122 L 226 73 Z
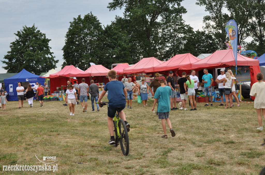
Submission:
M 99 103 L 100 108 L 102 108 L 104 105 L 108 104 L 108 102 L 103 101 L 103 103 Z M 113 144 L 114 147 L 117 147 L 119 142 L 121 146 L 121 150 L 123 155 L 128 155 L 129 154 L 129 136 L 128 136 L 128 131 L 126 124 L 123 119 L 120 118 L 119 116 L 119 110 L 121 108 L 116 109 L 116 114 L 113 118 L 113 124 L 114 124 L 114 132 L 115 132 L 115 143 Z

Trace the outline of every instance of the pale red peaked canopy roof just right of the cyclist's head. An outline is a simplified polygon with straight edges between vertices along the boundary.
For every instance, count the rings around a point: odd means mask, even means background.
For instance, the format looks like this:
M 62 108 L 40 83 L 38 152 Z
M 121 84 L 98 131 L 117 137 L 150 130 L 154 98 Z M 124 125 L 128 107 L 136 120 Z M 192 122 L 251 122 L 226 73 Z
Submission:
M 155 57 L 143 58 L 138 63 L 131 67 L 123 69 L 124 74 L 139 74 L 143 72 L 154 72 L 154 67 L 162 64 L 163 62 Z

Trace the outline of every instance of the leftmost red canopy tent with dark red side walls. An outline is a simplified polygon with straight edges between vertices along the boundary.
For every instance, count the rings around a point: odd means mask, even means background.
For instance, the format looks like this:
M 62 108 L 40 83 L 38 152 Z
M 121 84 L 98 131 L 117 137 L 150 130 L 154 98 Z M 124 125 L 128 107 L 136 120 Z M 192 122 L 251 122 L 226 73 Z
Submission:
M 73 65 L 65 66 L 62 70 L 55 74 L 50 74 L 50 92 L 53 93 L 53 91 L 56 91 L 56 87 L 61 87 L 61 85 L 67 85 L 67 81 L 74 82 L 74 79 L 71 79 L 70 77 L 89 77 L 90 74 L 88 72 L 84 72 L 82 70 L 77 69 Z

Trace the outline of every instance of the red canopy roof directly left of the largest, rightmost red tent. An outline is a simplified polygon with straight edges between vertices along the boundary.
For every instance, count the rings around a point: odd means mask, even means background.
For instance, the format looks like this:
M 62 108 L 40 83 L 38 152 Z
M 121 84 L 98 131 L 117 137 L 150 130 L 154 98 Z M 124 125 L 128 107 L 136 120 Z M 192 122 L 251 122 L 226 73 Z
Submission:
M 167 60 L 166 62 L 155 66 L 154 72 L 161 72 L 161 71 L 170 71 L 170 70 L 191 70 L 191 64 L 197 62 L 201 59 L 188 54 L 179 54 L 173 56 L 171 59 Z

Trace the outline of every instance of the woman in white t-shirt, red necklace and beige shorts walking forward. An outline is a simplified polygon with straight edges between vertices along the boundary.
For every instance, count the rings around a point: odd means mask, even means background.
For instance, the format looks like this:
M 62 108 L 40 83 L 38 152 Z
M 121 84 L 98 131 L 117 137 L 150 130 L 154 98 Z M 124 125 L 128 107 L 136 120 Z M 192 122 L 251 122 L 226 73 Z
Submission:
M 74 115 L 74 105 L 77 102 L 76 90 L 73 85 L 69 85 L 66 90 L 65 103 L 69 103 L 70 115 Z

